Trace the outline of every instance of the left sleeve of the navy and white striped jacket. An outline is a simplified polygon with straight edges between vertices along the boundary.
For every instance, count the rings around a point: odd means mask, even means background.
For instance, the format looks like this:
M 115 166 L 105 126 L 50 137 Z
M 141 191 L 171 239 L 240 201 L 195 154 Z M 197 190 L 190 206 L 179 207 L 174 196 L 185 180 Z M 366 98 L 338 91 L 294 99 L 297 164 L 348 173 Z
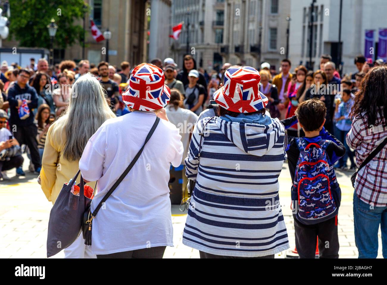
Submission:
M 185 161 L 185 175 L 188 179 L 196 180 L 197 169 L 199 166 L 199 144 L 200 144 L 200 132 L 203 130 L 204 120 L 197 121 L 192 133 L 190 148 L 188 150 L 188 156 Z

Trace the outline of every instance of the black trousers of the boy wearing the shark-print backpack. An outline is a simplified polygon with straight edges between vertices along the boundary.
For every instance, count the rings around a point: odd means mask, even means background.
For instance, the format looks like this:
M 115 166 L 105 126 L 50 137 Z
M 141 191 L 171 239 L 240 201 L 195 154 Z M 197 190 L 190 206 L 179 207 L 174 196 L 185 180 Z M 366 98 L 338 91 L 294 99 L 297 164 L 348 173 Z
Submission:
M 336 218 L 315 225 L 304 225 L 294 219 L 294 230 L 296 249 L 300 258 L 315 258 L 317 236 L 320 258 L 339 258 Z

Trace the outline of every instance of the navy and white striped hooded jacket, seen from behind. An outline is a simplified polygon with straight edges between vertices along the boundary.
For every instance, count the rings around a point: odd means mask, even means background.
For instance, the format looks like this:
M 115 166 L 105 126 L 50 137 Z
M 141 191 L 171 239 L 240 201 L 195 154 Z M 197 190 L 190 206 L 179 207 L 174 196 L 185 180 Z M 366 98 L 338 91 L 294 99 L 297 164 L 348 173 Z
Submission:
M 278 119 L 269 119 L 269 125 L 219 117 L 197 122 L 185 159 L 186 175 L 196 185 L 183 244 L 240 257 L 289 248 L 278 195 L 285 129 Z

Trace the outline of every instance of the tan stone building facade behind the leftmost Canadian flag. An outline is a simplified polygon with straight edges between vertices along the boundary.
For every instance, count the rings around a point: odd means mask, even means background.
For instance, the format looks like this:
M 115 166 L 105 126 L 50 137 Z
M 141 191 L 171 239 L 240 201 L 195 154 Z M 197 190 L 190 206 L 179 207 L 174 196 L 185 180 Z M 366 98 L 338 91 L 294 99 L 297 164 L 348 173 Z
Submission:
M 85 57 L 91 63 L 98 64 L 106 59 L 119 66 L 123 60 L 132 65 L 146 60 L 147 52 L 147 18 L 146 9 L 149 1 L 144 0 L 85 0 L 91 12 L 85 15 L 86 40 Z M 106 40 L 97 43 L 91 35 L 89 18 L 103 33 L 111 32 L 109 48 Z M 82 25 L 82 21 L 79 22 Z M 64 52 L 64 59 L 82 59 L 82 46 L 75 44 Z

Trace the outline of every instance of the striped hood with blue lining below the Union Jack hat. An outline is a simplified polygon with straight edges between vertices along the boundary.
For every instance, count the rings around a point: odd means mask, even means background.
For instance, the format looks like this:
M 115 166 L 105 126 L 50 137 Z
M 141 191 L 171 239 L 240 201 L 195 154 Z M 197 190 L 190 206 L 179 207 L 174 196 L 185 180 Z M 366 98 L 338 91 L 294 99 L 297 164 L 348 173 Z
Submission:
M 253 116 L 249 118 L 250 116 Z M 263 156 L 276 143 L 284 144 L 285 128 L 279 119 L 266 115 L 240 114 L 215 117 L 215 123 L 228 139 L 247 154 Z

